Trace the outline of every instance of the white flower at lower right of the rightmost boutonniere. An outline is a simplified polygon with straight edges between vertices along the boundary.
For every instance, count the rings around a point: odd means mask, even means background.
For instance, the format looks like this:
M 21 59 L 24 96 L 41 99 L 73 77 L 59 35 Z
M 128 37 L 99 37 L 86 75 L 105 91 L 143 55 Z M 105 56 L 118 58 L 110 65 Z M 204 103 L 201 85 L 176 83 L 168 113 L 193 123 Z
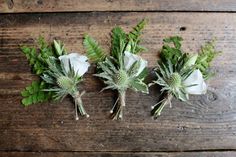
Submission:
M 200 95 L 205 94 L 207 91 L 207 85 L 204 82 L 201 71 L 198 69 L 194 70 L 192 74 L 183 81 L 183 84 L 185 86 L 190 86 L 185 88 L 188 94 Z

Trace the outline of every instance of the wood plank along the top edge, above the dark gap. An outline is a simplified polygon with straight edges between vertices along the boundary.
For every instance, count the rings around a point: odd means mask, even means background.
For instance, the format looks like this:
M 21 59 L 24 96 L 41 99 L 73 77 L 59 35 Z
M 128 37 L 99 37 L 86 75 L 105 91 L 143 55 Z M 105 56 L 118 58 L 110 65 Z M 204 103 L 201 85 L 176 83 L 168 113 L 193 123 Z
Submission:
M 234 0 L 1 0 L 0 13 L 75 11 L 236 11 Z

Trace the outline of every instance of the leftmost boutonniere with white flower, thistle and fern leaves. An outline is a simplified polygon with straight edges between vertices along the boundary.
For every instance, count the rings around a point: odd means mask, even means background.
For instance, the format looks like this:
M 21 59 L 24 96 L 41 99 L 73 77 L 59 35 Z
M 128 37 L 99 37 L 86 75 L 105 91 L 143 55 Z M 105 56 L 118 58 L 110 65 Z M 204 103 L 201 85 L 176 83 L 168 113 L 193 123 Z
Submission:
M 88 71 L 90 64 L 87 57 L 78 53 L 70 53 L 64 49 L 60 41 L 54 40 L 48 45 L 42 37 L 39 39 L 39 48 L 21 47 L 26 55 L 32 70 L 39 76 L 22 92 L 22 104 L 29 106 L 34 103 L 48 100 L 63 100 L 67 95 L 74 99 L 76 120 L 78 111 L 82 116 L 89 116 L 82 103 L 81 97 L 85 93 L 79 91 L 78 84 Z

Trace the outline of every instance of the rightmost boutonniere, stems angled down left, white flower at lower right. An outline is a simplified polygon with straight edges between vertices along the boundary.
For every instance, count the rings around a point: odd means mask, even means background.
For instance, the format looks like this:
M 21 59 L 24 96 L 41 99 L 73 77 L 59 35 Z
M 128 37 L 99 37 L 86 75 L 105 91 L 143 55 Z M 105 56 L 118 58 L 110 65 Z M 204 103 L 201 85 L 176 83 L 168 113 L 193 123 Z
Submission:
M 219 54 L 215 50 L 214 40 L 202 46 L 196 54 L 185 53 L 181 49 L 182 40 L 178 36 L 164 39 L 160 60 L 155 68 L 157 80 L 150 84 L 161 86 L 162 99 L 152 106 L 155 118 L 166 105 L 172 106 L 172 98 L 186 102 L 189 95 L 201 95 L 207 91 L 206 80 L 212 76 L 210 63 Z

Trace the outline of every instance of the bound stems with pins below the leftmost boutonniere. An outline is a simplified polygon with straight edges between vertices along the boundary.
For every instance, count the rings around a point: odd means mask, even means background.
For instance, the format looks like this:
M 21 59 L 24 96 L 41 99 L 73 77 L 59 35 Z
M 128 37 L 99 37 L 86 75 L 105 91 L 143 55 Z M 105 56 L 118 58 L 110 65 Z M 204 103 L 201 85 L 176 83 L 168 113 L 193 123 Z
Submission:
M 84 95 L 84 93 L 85 93 L 84 91 L 81 94 L 79 92 L 75 92 L 75 94 L 73 95 L 73 98 L 75 101 L 75 119 L 76 120 L 79 119 L 78 110 L 82 116 L 89 117 L 86 110 L 84 109 L 83 102 L 81 99 L 81 97 Z

